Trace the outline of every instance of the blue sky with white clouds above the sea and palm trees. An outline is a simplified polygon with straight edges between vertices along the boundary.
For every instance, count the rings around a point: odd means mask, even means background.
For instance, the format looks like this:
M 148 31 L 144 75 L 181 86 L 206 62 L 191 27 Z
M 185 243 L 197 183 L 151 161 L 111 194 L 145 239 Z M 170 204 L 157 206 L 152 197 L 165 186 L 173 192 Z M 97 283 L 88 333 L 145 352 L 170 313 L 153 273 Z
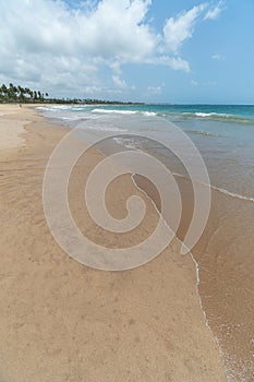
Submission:
M 51 97 L 254 104 L 253 0 L 0 0 L 0 84 Z

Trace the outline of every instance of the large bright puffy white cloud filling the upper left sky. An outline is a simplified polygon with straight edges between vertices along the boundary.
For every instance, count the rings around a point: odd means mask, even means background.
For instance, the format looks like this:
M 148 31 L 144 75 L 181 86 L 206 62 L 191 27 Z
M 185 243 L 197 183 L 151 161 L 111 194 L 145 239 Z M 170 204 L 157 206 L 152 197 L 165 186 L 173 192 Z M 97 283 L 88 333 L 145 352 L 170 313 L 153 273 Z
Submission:
M 86 14 L 63 1 L 0 0 L 2 43 L 8 39 L 20 51 L 33 53 L 83 53 L 138 62 L 157 44 L 156 34 L 143 23 L 149 4 L 148 0 L 102 0 Z

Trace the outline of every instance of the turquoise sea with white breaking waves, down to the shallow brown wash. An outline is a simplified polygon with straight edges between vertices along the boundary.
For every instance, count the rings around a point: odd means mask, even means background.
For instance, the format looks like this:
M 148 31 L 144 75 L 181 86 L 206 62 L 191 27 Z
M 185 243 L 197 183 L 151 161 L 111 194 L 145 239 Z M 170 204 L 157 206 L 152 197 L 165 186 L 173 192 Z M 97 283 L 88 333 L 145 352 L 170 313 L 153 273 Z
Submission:
M 86 128 L 89 126 L 89 130 L 94 129 L 98 134 L 99 129 L 116 132 L 116 135 L 145 134 L 144 129 L 138 127 L 138 120 L 150 121 L 153 117 L 161 117 L 177 124 L 192 139 L 205 160 L 211 186 L 254 200 L 253 105 L 75 105 L 40 109 L 48 117 L 71 126 L 88 120 Z M 129 118 L 130 126 L 124 123 L 124 129 L 117 127 L 114 120 L 120 116 Z M 104 120 L 100 128 L 99 119 Z M 168 140 L 167 127 L 158 129 L 156 119 L 153 130 L 155 139 Z M 125 143 L 130 145 L 126 140 Z M 135 142 L 132 144 L 135 145 Z M 158 155 L 165 154 L 161 148 L 159 151 L 157 147 L 157 151 Z M 172 170 L 178 171 L 179 168 Z

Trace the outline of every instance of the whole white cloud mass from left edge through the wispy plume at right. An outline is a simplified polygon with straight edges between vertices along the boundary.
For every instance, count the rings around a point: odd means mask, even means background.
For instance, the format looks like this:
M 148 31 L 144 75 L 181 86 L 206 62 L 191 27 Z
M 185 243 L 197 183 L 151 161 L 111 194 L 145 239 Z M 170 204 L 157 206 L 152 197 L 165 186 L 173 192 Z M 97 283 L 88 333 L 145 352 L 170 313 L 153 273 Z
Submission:
M 190 72 L 179 50 L 207 5 L 168 19 L 159 34 L 146 20 L 150 4 L 86 0 L 71 8 L 63 0 L 0 0 L 0 83 L 51 95 L 102 96 L 134 89 L 123 79 L 129 63 Z

